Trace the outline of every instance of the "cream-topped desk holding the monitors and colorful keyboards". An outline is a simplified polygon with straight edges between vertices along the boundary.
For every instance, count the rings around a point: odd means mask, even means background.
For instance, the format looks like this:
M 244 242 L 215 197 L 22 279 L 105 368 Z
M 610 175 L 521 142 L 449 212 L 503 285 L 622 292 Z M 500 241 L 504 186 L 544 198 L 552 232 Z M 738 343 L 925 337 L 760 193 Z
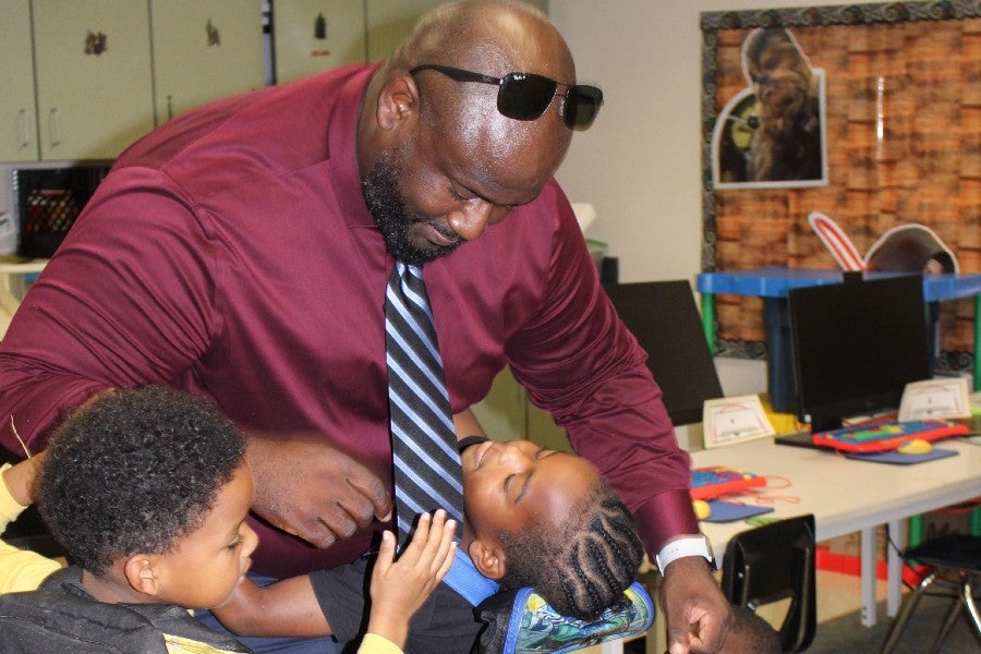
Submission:
M 692 452 L 692 467 L 730 465 L 748 472 L 780 475 L 790 481 L 783 489 L 762 494 L 795 496 L 797 504 L 777 501 L 777 518 L 813 513 L 815 537 L 825 541 L 843 534 L 861 533 L 862 625 L 875 623 L 875 533 L 888 524 L 897 546 L 906 544 L 906 519 L 981 496 L 981 446 L 962 439 L 944 440 L 936 447 L 955 449 L 957 457 L 917 465 L 889 465 L 846 459 L 831 451 L 775 445 L 764 438 L 738 445 Z M 703 522 L 702 531 L 712 541 L 717 556 L 729 538 L 752 529 L 743 521 Z M 888 594 L 886 613 L 895 616 L 901 593 L 901 561 L 888 549 Z

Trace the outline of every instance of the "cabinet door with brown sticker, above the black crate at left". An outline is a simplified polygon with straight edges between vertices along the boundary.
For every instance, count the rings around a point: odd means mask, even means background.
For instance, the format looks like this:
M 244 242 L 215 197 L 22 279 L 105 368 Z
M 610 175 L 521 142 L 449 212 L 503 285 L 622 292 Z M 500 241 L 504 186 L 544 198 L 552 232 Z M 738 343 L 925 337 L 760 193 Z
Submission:
M 111 159 L 154 126 L 146 2 L 34 0 L 45 160 Z

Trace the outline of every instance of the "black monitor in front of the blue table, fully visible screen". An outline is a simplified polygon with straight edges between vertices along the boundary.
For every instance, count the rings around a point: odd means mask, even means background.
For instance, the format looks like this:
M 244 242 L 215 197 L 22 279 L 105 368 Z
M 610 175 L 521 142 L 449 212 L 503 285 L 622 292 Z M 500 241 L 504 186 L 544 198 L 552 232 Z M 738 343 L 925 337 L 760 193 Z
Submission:
M 919 275 L 791 289 L 787 300 L 799 416 L 812 432 L 897 409 L 909 382 L 930 377 Z

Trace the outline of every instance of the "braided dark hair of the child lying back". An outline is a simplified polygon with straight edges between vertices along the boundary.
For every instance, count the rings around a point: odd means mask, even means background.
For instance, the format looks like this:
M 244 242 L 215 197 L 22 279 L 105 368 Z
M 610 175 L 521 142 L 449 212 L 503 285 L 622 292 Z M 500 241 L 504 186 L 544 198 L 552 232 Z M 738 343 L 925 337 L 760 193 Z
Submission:
M 602 479 L 558 524 L 540 521 L 521 534 L 501 533 L 502 589 L 533 586 L 559 614 L 593 620 L 628 600 L 644 548 L 633 516 Z M 554 561 L 543 565 L 543 561 Z

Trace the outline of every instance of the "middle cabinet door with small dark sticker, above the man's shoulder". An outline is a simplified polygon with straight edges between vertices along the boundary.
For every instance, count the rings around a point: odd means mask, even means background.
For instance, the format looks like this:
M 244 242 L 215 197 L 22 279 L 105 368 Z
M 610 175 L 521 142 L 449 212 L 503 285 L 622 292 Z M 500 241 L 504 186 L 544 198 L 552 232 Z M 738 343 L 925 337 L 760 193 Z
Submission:
M 265 84 L 261 0 L 153 0 L 156 122 Z

